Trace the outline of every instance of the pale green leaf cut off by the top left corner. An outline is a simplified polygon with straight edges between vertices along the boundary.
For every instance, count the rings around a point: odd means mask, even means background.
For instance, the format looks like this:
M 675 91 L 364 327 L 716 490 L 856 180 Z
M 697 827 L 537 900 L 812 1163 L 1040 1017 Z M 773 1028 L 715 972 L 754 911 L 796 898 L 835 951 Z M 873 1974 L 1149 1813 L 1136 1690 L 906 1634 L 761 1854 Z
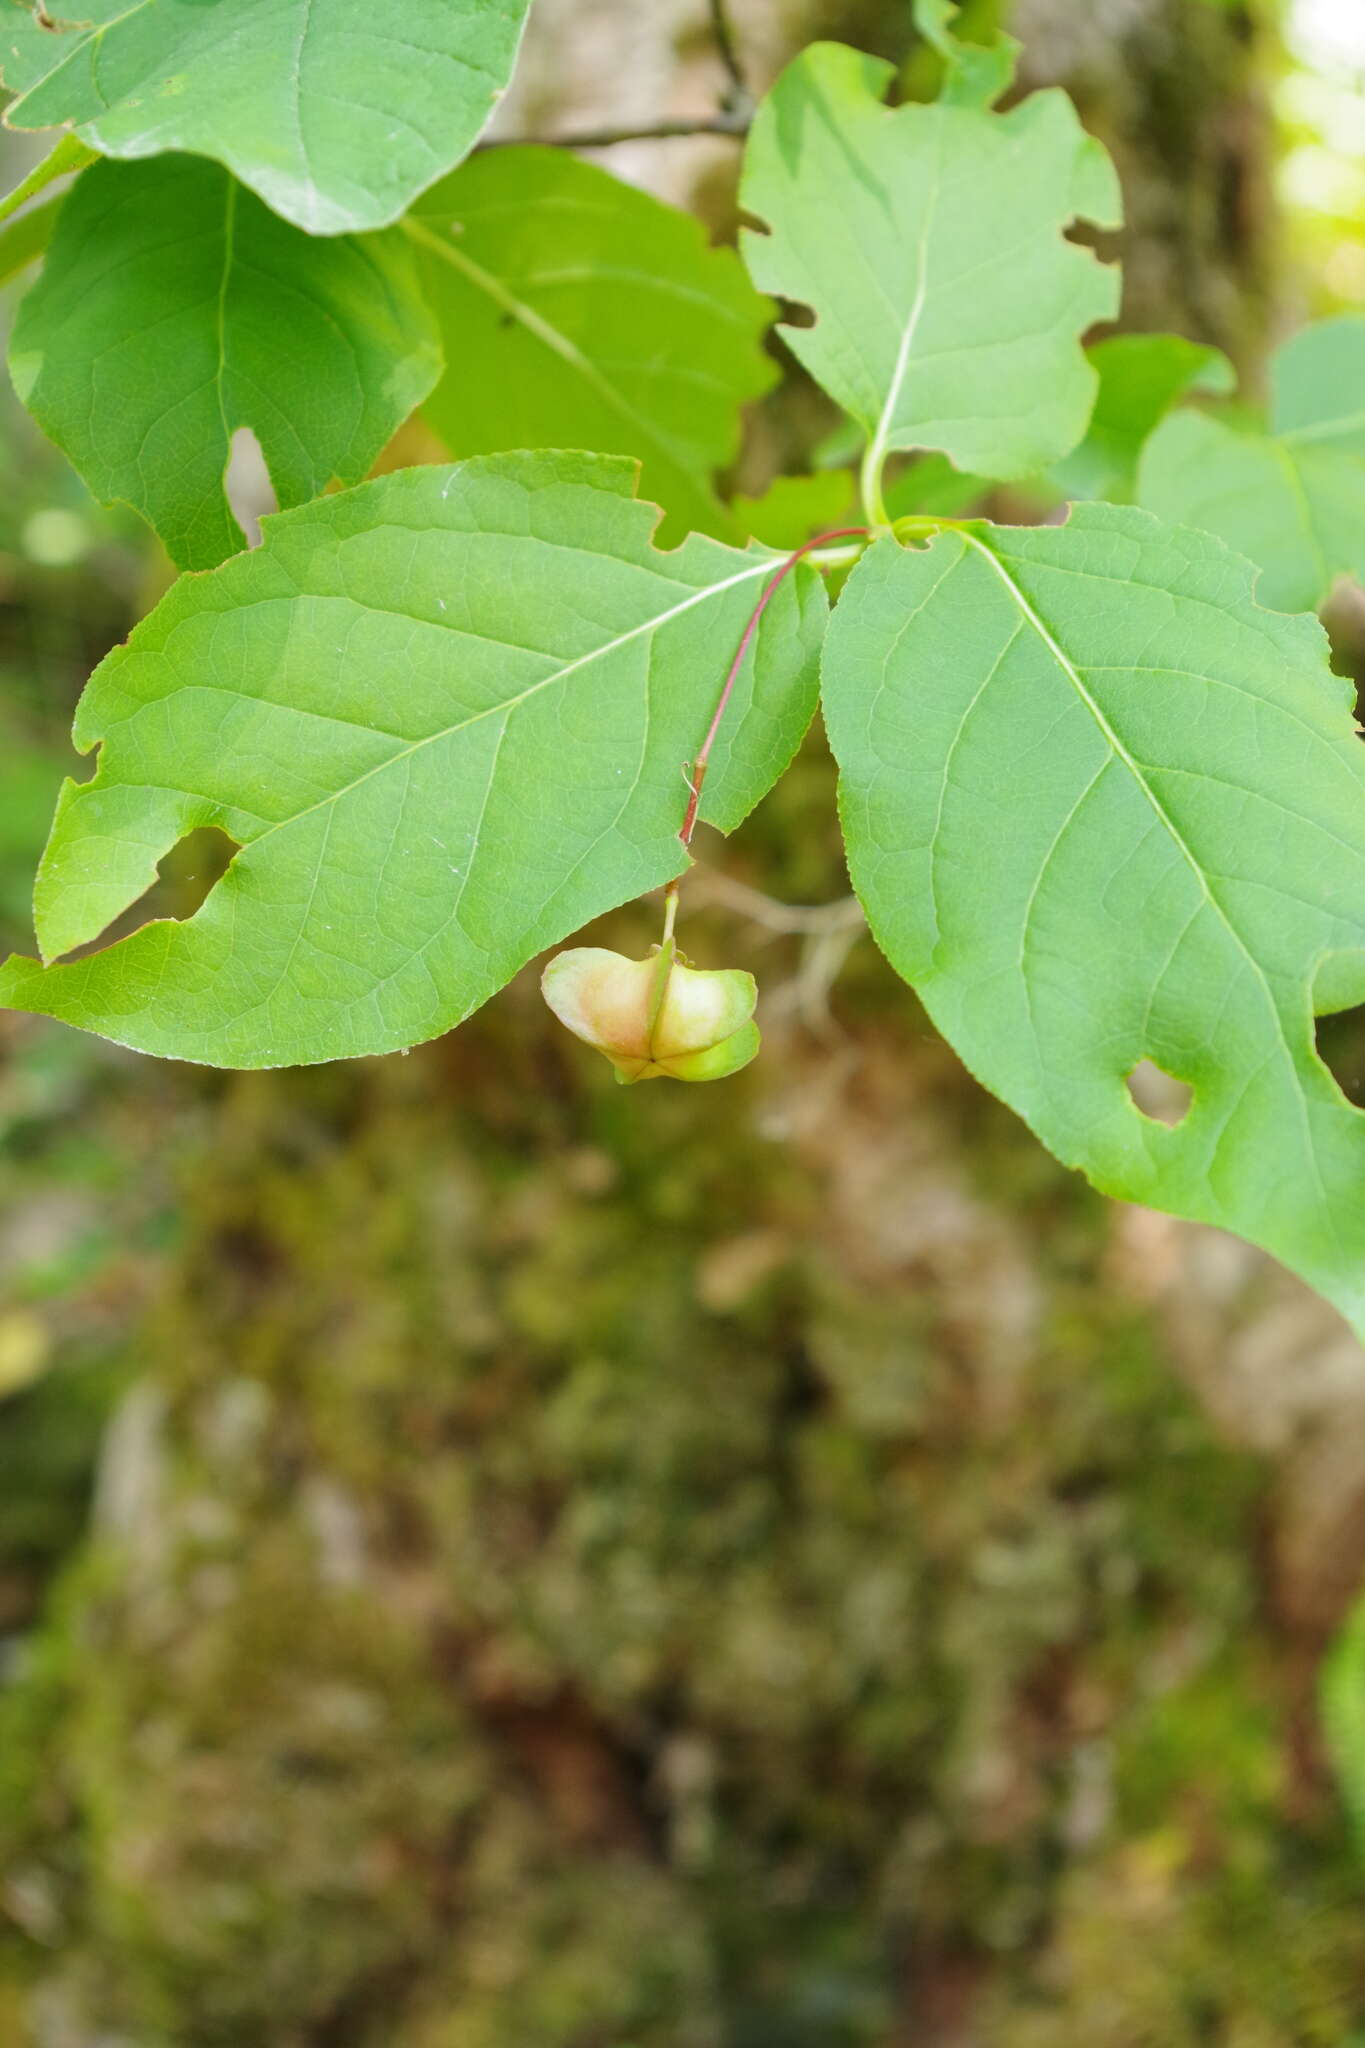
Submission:
M 10 127 L 76 127 L 102 156 L 217 158 L 315 236 L 395 221 L 467 154 L 530 0 L 80 0 L 6 4 Z

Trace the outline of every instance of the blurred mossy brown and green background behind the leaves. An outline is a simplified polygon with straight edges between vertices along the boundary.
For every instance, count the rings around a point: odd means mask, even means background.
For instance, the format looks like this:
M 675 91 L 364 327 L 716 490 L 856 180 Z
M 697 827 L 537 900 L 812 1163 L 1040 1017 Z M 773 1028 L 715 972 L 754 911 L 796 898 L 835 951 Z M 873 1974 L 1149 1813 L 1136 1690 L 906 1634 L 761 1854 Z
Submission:
M 898 0 L 733 12 L 757 82 L 837 33 L 917 88 Z M 1132 326 L 1254 383 L 1365 301 L 1359 0 L 968 14 L 1115 150 Z M 540 0 L 505 121 L 718 88 L 694 0 Z M 606 162 L 733 217 L 731 143 Z M 790 381 L 743 487 L 823 426 Z M 27 948 L 168 569 L 8 389 L 0 453 Z M 1359 664 L 1359 594 L 1332 629 Z M 847 889 L 831 780 L 817 735 L 698 848 L 761 891 L 686 911 L 765 989 L 722 1094 L 616 1090 L 534 973 L 293 1073 L 0 1020 L 4 2048 L 1365 2044 L 1365 1354 L 1054 1165 L 853 928 L 780 928 Z

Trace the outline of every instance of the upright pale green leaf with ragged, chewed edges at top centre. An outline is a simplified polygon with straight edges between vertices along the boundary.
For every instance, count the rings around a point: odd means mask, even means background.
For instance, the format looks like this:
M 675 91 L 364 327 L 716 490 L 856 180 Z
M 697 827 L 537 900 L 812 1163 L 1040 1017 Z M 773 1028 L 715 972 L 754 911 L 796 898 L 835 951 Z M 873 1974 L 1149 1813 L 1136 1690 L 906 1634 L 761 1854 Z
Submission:
M 1113 225 L 1117 180 L 1062 92 L 1007 115 L 882 104 L 890 66 L 802 51 L 745 152 L 743 254 L 763 291 L 810 307 L 782 336 L 868 434 L 1017 477 L 1081 440 L 1095 371 L 1081 334 L 1117 307 L 1117 270 L 1064 240 Z

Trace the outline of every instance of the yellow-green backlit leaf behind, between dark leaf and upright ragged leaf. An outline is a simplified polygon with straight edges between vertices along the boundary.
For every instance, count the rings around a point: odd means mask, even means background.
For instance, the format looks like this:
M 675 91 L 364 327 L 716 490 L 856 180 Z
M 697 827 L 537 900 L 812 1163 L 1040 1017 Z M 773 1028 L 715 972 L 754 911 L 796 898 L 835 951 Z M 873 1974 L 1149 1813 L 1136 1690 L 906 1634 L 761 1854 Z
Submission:
M 641 496 L 735 537 L 714 471 L 776 379 L 774 305 L 688 213 L 563 150 L 489 150 L 407 219 L 448 371 L 426 418 L 452 455 L 600 449 Z

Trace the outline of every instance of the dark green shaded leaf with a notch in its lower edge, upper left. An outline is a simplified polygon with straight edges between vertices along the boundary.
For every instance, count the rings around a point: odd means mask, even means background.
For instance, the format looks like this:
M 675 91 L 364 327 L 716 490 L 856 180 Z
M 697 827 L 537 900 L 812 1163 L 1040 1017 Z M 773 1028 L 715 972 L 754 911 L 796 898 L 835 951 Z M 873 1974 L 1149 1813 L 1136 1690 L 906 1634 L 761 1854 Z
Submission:
M 282 506 L 358 483 L 440 375 L 405 236 L 315 240 L 203 158 L 96 164 L 65 199 L 10 342 L 14 385 L 104 504 L 184 569 L 241 545 L 235 428 Z

